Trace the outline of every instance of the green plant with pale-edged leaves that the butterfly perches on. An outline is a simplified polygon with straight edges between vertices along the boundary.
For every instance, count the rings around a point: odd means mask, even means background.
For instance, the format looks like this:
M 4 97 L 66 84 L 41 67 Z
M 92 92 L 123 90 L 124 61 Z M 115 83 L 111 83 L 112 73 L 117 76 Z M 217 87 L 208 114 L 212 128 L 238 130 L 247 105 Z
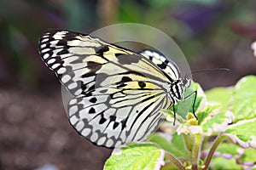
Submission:
M 143 143 L 114 149 L 104 169 L 256 169 L 256 77 L 243 77 L 234 87 L 197 90 L 195 119 L 186 102 Z M 192 99 L 192 98 L 191 98 Z M 191 107 L 191 106 L 190 106 Z M 180 109 L 178 109 L 180 108 Z

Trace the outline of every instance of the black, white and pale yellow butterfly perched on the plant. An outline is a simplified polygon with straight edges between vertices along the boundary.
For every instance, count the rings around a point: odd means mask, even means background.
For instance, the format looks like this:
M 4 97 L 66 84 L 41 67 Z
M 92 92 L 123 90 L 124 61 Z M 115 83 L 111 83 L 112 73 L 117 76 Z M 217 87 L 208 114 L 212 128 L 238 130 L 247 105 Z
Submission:
M 191 82 L 163 54 L 133 52 L 73 31 L 45 31 L 39 53 L 73 94 L 67 105 L 71 125 L 108 148 L 148 138 L 171 106 L 175 118 L 174 105 Z

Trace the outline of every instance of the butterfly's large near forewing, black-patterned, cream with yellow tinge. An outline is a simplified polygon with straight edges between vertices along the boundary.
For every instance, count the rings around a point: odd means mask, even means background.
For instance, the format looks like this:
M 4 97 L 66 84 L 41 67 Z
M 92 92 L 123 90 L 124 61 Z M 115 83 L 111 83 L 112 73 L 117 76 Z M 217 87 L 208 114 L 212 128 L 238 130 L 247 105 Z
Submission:
M 117 75 L 145 74 L 151 79 L 168 81 L 142 55 L 72 31 L 45 32 L 40 39 L 39 51 L 45 64 L 55 71 L 73 95 L 94 88 L 96 78 L 102 81 L 99 77 L 116 79 Z M 100 76 L 96 77 L 98 74 Z

